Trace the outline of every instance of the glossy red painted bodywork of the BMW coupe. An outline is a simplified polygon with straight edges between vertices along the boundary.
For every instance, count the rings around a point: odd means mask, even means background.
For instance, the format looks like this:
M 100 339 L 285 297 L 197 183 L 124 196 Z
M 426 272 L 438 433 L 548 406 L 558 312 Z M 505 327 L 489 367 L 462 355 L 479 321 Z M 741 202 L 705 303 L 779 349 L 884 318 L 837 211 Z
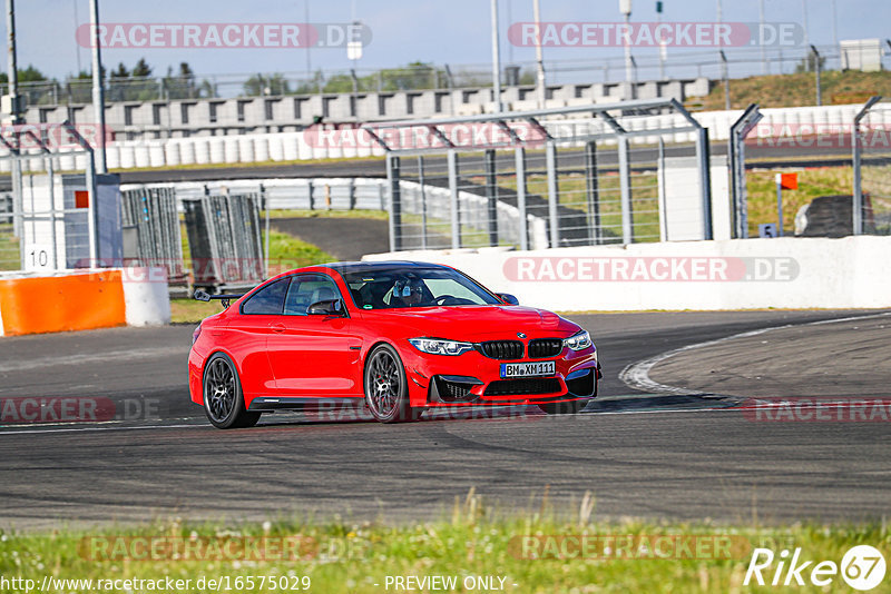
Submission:
M 581 328 L 550 311 L 511 305 L 363 310 L 356 307 L 349 287 L 334 269 L 309 267 L 276 278 L 300 273 L 323 273 L 333 278 L 347 317 L 245 315 L 239 313 L 239 304 L 247 297 L 239 299 L 202 323 L 200 335 L 189 355 L 189 389 L 195 403 L 203 404 L 204 365 L 217 352 L 227 354 L 235 363 L 248 407 L 261 396 L 363 398 L 364 362 L 380 343 L 390 344 L 399 353 L 409 378 L 411 405 L 419 407 L 468 404 L 430 402 L 430 378 L 434 375 L 480 379 L 482 385 L 471 390 L 479 396 L 471 403 L 473 405 L 578 399 L 567 394 L 566 376 L 591 368 L 595 378 L 599 377 L 593 345 L 579 352 L 564 347 L 558 356 L 545 359 L 556 363 L 556 377 L 561 386 L 559 394 L 483 396 L 490 382 L 501 379 L 500 365 L 506 362 L 489 358 L 477 350 L 458 356 L 430 355 L 414 348 L 409 338 L 482 343 L 517 340 L 518 333 L 522 333 L 525 338 L 521 340 L 528 345 L 535 338 L 568 338 Z M 531 360 L 542 359 L 523 357 L 511 359 L 511 363 Z

